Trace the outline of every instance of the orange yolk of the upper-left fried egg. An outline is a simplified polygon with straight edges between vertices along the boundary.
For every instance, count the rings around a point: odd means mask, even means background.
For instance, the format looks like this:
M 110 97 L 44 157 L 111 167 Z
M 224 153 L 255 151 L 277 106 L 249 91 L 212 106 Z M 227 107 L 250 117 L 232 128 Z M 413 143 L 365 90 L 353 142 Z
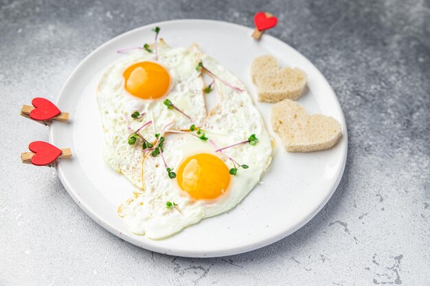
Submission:
M 156 99 L 163 97 L 170 87 L 170 75 L 155 62 L 137 62 L 123 73 L 126 90 L 136 97 Z

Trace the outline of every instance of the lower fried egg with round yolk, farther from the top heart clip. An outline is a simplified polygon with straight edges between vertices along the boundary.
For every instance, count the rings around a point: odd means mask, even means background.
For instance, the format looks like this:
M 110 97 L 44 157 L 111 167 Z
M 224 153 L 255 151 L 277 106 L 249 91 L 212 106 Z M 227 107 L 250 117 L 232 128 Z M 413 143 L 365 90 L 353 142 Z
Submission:
M 161 156 L 148 155 L 135 162 L 142 163 L 144 191 L 135 192 L 133 198 L 121 204 L 118 214 L 133 233 L 149 239 L 169 237 L 201 219 L 234 208 L 253 189 L 271 162 L 270 136 L 245 86 L 213 58 L 203 52 L 199 57 L 207 69 L 243 92 L 215 80 L 218 105 L 201 124 L 196 123 L 205 132 L 207 141 L 192 132 L 164 134 L 163 158 L 176 172 L 176 178 L 168 178 Z M 201 104 L 204 108 L 205 103 Z M 202 106 L 194 105 L 194 108 Z M 159 127 L 156 130 L 161 132 Z M 259 139 L 256 145 L 242 144 L 216 152 L 220 147 L 248 139 L 251 134 Z M 230 158 L 249 168 L 239 169 L 238 174 L 232 176 L 229 169 L 234 164 Z M 168 202 L 171 207 L 167 207 Z

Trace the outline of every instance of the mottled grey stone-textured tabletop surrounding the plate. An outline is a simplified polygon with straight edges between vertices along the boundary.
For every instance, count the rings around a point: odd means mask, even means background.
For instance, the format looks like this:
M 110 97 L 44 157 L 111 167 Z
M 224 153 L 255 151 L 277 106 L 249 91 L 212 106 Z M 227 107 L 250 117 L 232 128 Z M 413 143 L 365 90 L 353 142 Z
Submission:
M 0 285 L 430 285 L 428 0 L 0 3 Z M 293 235 L 219 259 L 152 253 L 95 224 L 53 169 L 20 163 L 47 140 L 21 105 L 55 99 L 106 40 L 168 19 L 252 25 L 258 10 L 326 75 L 348 123 L 341 184 Z

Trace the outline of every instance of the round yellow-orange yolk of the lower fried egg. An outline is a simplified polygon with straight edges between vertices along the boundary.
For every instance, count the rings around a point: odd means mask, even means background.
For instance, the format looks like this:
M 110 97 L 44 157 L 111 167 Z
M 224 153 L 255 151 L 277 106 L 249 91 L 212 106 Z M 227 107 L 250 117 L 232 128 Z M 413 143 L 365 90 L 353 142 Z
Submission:
M 212 200 L 225 193 L 230 182 L 229 168 L 211 154 L 196 154 L 178 169 L 179 187 L 196 200 Z

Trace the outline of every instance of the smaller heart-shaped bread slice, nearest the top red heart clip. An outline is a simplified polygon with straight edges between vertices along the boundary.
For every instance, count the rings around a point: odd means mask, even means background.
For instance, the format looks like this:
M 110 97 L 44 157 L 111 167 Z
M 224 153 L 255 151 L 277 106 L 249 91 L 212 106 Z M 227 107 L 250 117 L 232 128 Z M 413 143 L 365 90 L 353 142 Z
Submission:
M 269 55 L 253 60 L 251 78 L 257 87 L 260 102 L 297 99 L 302 96 L 306 87 L 304 71 L 291 67 L 279 69 L 278 61 Z

